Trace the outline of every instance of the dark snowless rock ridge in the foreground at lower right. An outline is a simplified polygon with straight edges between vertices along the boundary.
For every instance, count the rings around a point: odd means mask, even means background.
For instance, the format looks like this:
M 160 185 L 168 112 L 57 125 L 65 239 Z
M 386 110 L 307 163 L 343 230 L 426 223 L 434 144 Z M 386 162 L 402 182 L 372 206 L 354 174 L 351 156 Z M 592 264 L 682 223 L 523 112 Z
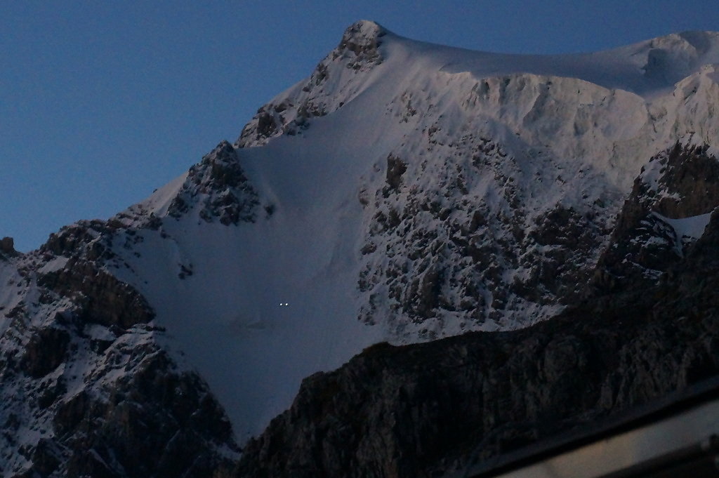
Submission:
M 715 215 L 659 284 L 521 331 L 372 346 L 305 380 L 235 476 L 438 476 L 712 377 L 718 252 Z

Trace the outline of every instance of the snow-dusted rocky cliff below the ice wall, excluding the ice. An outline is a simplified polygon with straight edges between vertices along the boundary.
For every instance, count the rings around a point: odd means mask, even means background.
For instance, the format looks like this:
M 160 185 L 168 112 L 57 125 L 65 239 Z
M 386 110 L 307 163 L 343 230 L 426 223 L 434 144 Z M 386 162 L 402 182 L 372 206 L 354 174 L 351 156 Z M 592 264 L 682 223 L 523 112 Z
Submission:
M 613 191 L 539 202 L 540 188 L 572 193 L 551 161 L 472 133 L 429 129 L 425 141 L 446 159 L 390 154 L 383 182 L 362 188 L 360 320 L 436 339 L 538 321 L 580 298 L 620 206 Z

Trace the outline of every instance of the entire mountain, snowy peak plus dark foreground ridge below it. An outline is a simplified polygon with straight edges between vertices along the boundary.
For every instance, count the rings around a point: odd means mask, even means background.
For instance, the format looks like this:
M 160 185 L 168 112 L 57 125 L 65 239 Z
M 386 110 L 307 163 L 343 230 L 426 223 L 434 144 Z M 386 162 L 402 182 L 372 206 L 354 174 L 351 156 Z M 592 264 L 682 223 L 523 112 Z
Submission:
M 713 32 L 531 57 L 352 25 L 146 201 L 3 239 L 0 472 L 429 476 L 715 374 L 716 64 Z

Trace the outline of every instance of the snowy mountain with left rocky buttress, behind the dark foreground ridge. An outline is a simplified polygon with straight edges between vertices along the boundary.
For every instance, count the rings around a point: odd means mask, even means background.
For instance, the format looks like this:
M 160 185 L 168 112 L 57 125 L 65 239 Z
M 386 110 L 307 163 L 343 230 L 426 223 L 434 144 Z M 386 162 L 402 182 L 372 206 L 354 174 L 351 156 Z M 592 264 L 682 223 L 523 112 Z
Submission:
M 367 346 L 659 280 L 719 205 L 718 68 L 716 32 L 529 56 L 352 25 L 147 200 L 2 244 L 0 471 L 209 473 Z

